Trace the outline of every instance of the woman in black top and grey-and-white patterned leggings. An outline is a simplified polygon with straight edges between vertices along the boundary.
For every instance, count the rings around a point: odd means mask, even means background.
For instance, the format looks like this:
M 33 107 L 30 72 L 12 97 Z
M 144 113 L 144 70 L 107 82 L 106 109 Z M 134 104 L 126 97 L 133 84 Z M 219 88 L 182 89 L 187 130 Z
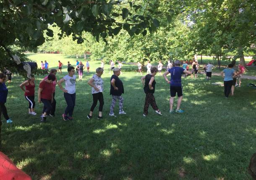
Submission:
M 123 111 L 123 97 L 121 96 L 124 93 L 123 89 L 123 82 L 118 78 L 120 75 L 120 69 L 114 68 L 113 69 L 114 74 L 111 76 L 110 79 L 110 95 L 112 95 L 112 103 L 110 106 L 110 116 L 114 116 L 114 107 L 115 102 L 118 99 L 119 100 L 119 114 L 126 114 Z

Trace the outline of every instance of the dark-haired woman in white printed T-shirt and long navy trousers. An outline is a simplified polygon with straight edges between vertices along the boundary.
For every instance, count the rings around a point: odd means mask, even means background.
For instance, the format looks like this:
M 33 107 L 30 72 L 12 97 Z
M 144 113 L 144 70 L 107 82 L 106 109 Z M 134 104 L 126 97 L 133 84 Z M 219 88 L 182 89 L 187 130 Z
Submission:
M 60 81 L 57 82 L 60 89 L 64 92 L 64 98 L 67 102 L 63 120 L 73 120 L 72 115 L 76 104 L 76 75 L 75 68 L 73 66 L 68 67 L 68 75 L 64 76 Z M 61 86 L 61 83 L 65 81 L 65 88 Z

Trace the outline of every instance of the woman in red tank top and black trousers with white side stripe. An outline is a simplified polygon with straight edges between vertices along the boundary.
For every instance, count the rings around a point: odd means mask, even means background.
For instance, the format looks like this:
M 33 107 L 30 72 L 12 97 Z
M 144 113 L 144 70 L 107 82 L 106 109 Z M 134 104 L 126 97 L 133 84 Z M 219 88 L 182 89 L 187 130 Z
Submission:
M 35 77 L 33 74 L 31 74 L 31 78 L 24 81 L 20 87 L 21 90 L 24 91 L 24 96 L 27 101 L 29 101 L 29 114 L 37 115 L 36 112 L 34 112 L 35 107 Z M 24 89 L 25 86 L 25 89 Z

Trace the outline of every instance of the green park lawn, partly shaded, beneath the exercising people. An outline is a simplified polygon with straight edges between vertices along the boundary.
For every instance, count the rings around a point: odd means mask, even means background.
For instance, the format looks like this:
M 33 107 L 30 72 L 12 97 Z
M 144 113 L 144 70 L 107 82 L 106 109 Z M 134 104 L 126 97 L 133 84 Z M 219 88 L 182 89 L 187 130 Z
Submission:
M 64 64 L 76 61 L 55 54 L 29 57 L 41 61 L 46 56 L 55 68 L 58 58 Z M 90 63 L 96 69 L 100 61 Z M 65 67 L 63 72 L 57 74 L 58 79 L 67 74 Z M 224 88 L 212 84 L 222 82 L 219 76 L 210 81 L 201 74 L 198 79 L 183 78 L 181 108 L 185 113 L 169 114 L 169 85 L 156 76 L 154 95 L 163 115 L 150 107 L 148 117 L 143 117 L 141 76 L 125 71 L 120 79 L 127 114 L 118 115 L 117 103 L 117 117 L 109 117 L 111 74 L 107 72 L 102 75 L 104 119 L 98 120 L 98 106 L 93 119 L 86 118 L 92 104 L 87 81 L 92 75 L 85 73 L 84 81 L 77 82 L 74 120 L 68 122 L 61 117 L 66 103 L 58 87 L 56 117 L 41 124 L 42 104 L 36 104 L 37 116 L 27 114 L 28 103 L 18 87 L 23 78 L 14 76 L 7 83 L 6 106 L 14 122 L 3 120 L 2 151 L 33 180 L 251 179 L 247 167 L 256 150 L 256 89 L 246 86 L 251 81 L 243 80 L 235 96 L 226 99 Z M 42 77 L 37 76 L 37 87 Z

